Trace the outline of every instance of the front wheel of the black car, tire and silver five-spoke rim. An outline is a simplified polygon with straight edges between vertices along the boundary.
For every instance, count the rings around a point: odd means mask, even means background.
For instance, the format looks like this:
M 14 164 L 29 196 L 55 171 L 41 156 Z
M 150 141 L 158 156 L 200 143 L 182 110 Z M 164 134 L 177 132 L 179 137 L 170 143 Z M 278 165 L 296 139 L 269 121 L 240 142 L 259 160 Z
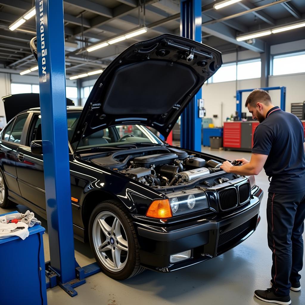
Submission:
M 137 236 L 130 216 L 116 201 L 99 203 L 89 220 L 89 241 L 95 259 L 110 278 L 131 278 L 140 266 Z

